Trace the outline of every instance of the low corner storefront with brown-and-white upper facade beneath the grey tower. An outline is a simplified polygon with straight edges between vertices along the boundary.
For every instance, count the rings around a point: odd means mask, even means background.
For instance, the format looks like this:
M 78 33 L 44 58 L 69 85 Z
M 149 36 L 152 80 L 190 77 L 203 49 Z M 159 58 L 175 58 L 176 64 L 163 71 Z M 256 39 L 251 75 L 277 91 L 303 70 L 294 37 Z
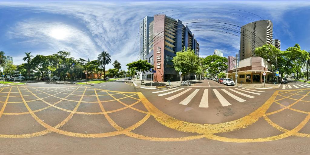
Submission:
M 237 82 L 238 83 L 263 83 L 263 72 L 266 73 L 265 81 L 273 80 L 274 75 L 271 72 L 272 66 L 261 57 L 250 57 L 239 61 L 237 67 Z M 236 80 L 236 69 L 228 71 L 228 78 Z

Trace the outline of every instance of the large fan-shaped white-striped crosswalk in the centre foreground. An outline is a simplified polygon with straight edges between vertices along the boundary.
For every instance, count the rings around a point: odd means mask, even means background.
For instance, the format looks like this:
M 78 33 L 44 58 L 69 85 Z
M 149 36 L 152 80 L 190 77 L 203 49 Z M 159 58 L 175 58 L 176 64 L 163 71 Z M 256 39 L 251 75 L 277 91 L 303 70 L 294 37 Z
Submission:
M 251 90 L 245 88 L 219 88 L 219 89 L 193 89 L 193 88 L 171 88 L 152 93 L 165 97 L 166 100 L 175 101 L 182 105 L 190 103 L 199 104 L 199 108 L 209 108 L 210 102 L 221 106 L 229 106 L 233 103 L 242 103 L 261 95 L 265 91 Z

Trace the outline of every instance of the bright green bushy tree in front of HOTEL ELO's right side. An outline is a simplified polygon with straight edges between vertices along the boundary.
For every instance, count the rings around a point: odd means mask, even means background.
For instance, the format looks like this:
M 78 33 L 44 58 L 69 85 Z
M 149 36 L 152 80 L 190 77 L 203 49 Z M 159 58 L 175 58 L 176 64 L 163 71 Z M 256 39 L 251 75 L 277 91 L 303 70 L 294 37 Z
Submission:
M 176 56 L 172 59 L 175 67 L 175 71 L 182 72 L 187 75 L 188 73 L 196 73 L 199 69 L 199 58 L 191 48 L 182 49 L 176 53 Z

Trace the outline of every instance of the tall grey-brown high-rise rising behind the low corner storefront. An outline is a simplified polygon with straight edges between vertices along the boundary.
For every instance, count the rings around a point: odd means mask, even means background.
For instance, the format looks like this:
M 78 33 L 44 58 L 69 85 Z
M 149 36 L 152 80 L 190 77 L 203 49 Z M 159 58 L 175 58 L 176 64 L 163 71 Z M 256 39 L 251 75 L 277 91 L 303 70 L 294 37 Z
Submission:
M 259 20 L 243 25 L 240 37 L 240 60 L 255 56 L 255 48 L 272 44 L 271 20 Z

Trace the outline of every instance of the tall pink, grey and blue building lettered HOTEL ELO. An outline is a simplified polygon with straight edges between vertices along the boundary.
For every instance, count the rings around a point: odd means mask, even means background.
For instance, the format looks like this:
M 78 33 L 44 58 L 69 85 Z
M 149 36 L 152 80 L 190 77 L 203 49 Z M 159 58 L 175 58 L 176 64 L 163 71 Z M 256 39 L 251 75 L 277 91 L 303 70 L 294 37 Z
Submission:
M 146 16 L 140 22 L 141 60 L 148 60 L 156 70 L 153 73 L 154 82 L 178 81 L 180 76 L 175 71 L 172 59 L 176 52 L 191 48 L 199 57 L 199 44 L 194 34 L 181 20 L 175 20 L 166 15 Z M 140 79 L 151 80 L 151 72 L 142 73 Z M 194 79 L 190 73 L 182 79 Z

